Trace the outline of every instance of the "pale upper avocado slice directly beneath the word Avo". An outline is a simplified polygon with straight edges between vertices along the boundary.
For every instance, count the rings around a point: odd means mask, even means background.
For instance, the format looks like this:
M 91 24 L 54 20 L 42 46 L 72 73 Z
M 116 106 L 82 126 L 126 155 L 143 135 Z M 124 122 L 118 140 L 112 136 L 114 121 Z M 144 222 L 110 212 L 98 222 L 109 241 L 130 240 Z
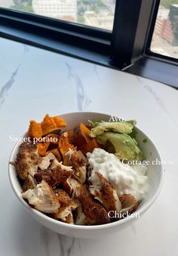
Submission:
M 120 121 L 120 122 L 95 122 L 89 121 L 91 128 L 91 137 L 96 137 L 104 132 L 115 133 L 132 133 L 133 126 L 136 124 L 135 120 Z

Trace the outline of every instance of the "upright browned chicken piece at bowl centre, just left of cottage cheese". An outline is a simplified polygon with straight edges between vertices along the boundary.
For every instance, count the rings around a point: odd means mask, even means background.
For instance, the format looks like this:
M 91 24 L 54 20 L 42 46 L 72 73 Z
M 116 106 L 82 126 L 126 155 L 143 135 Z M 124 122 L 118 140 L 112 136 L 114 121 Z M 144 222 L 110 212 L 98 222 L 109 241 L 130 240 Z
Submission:
M 68 156 L 70 164 L 72 164 L 74 169 L 73 176 L 75 180 L 78 180 L 79 183 L 83 184 L 86 180 L 86 167 L 88 164 L 87 158 L 85 158 L 80 150 L 76 151 L 71 150 L 70 148 L 69 151 L 66 152 L 66 156 Z

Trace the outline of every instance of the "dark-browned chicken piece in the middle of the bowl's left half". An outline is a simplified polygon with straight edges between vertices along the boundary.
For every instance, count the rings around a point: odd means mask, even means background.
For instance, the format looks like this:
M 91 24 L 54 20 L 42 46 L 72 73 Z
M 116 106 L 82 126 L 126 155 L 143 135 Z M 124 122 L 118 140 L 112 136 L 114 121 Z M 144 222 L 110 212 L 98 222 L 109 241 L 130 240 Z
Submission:
M 72 168 L 66 167 L 63 164 L 55 168 L 48 167 L 45 170 L 37 170 L 35 173 L 35 180 L 40 183 L 41 180 L 45 180 L 50 186 L 56 187 L 61 183 L 65 182 L 72 174 Z

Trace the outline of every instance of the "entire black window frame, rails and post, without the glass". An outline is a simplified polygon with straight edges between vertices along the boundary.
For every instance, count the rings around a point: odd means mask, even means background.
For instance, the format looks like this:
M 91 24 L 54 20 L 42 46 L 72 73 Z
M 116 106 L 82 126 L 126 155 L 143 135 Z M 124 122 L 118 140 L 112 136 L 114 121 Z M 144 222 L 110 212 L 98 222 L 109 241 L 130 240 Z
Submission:
M 160 0 L 116 0 L 112 32 L 0 8 L 0 37 L 178 87 L 178 80 L 174 81 L 178 73 L 177 60 L 150 50 L 159 2 Z M 164 69 L 172 72 L 167 80 L 161 77 L 163 63 Z M 152 75 L 150 66 L 153 66 L 154 72 L 158 72 Z

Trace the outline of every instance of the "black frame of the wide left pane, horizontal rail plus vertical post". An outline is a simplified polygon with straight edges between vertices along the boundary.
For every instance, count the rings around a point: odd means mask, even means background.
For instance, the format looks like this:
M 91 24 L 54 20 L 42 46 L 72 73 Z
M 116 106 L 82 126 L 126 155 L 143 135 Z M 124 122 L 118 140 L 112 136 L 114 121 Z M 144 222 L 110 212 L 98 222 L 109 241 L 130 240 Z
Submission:
M 112 32 L 28 12 L 0 8 L 0 36 L 108 67 L 123 69 L 132 61 L 141 2 L 142 0 L 116 0 L 115 17 L 118 18 L 114 20 Z M 130 19 L 127 19 L 123 27 L 125 17 Z M 126 30 L 129 30 L 127 35 Z M 44 43 L 38 38 L 39 36 L 44 39 Z M 45 38 L 50 39 L 51 42 L 47 44 Z M 70 45 L 73 49 L 69 47 Z M 129 51 L 126 45 L 130 48 Z

